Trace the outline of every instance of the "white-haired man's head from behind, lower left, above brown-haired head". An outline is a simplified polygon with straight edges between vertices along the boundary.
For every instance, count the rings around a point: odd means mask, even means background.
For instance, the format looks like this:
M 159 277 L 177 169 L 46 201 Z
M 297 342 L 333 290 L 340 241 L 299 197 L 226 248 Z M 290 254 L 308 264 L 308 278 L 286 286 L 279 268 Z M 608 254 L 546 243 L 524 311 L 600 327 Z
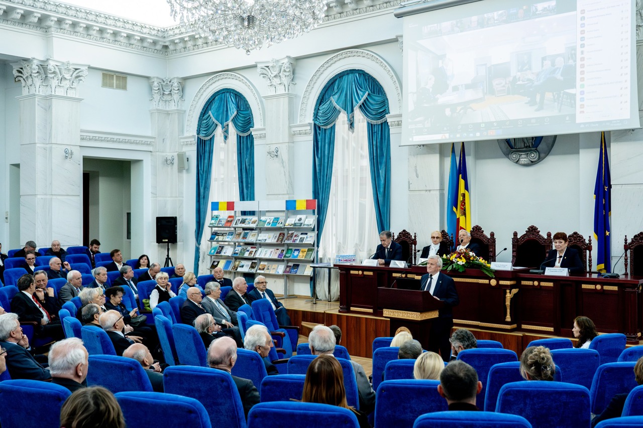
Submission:
M 87 388 L 88 359 L 89 353 L 77 337 L 54 343 L 49 350 L 51 382 L 64 386 L 72 393 Z

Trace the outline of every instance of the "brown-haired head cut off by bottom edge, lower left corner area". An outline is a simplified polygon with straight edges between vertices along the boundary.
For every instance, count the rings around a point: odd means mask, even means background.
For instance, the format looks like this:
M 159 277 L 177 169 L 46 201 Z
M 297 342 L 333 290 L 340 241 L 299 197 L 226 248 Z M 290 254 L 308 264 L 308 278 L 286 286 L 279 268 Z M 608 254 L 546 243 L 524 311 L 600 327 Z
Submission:
M 125 418 L 111 392 L 102 386 L 92 386 L 79 389 L 65 400 L 60 409 L 60 426 L 125 428 Z

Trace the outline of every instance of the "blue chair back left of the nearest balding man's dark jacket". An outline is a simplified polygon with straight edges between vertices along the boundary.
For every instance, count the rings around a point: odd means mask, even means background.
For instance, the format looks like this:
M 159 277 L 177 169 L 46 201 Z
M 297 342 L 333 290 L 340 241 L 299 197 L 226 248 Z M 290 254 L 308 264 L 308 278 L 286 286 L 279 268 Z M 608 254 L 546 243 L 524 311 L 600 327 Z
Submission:
M 163 373 L 163 388 L 165 393 L 199 400 L 210 415 L 212 426 L 246 427 L 241 398 L 230 373 L 206 367 L 171 366 Z

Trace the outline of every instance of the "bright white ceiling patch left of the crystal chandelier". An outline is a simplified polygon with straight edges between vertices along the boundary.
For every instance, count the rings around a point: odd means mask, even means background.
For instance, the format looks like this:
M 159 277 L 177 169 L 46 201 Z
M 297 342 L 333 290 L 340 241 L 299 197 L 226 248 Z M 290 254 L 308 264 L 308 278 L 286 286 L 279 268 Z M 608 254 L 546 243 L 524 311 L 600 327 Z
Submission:
M 167 0 L 65 0 L 59 3 L 73 4 L 84 9 L 159 27 L 178 24 L 170 16 L 170 5 Z

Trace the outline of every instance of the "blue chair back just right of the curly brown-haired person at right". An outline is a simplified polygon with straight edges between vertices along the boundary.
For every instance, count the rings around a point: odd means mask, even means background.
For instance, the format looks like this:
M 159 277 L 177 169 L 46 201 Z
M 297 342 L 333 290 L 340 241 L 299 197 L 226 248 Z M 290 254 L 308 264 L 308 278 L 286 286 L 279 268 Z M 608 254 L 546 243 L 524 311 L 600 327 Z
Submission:
M 555 349 L 551 352 L 556 368 L 563 371 L 563 382 L 592 388 L 599 368 L 599 353 L 593 349 Z

